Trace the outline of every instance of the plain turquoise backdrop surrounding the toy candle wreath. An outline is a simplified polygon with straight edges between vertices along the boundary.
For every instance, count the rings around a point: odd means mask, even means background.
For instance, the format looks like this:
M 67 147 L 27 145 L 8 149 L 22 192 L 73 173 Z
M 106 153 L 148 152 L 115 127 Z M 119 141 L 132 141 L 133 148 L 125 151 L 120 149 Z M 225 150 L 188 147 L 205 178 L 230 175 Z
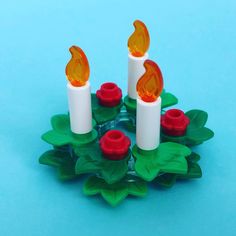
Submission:
M 40 136 L 67 112 L 65 65 L 76 44 L 87 54 L 93 91 L 127 85 L 127 39 L 143 20 L 150 58 L 178 108 L 209 112 L 215 138 L 196 148 L 203 178 L 116 208 L 62 183 L 38 164 Z M 1 1 L 0 235 L 236 235 L 236 2 Z M 124 92 L 125 93 L 125 92 Z

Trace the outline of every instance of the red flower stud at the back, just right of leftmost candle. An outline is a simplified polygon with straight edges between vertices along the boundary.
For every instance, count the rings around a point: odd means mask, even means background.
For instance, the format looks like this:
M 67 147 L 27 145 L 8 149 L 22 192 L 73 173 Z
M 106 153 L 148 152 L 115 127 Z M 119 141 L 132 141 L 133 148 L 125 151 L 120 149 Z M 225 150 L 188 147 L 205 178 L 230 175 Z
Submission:
M 104 83 L 97 90 L 96 96 L 102 106 L 117 106 L 122 98 L 122 91 L 115 83 Z

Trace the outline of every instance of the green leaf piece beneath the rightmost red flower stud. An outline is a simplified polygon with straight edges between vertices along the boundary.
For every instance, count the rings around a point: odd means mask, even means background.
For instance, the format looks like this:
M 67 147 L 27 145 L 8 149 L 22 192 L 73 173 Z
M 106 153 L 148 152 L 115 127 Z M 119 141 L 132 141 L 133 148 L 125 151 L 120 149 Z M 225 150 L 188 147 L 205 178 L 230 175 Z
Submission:
M 190 119 L 190 124 L 187 128 L 186 135 L 180 137 L 168 136 L 161 134 L 163 141 L 181 143 L 187 146 L 194 146 L 211 139 L 214 132 L 205 127 L 208 115 L 205 111 L 191 110 L 185 113 Z

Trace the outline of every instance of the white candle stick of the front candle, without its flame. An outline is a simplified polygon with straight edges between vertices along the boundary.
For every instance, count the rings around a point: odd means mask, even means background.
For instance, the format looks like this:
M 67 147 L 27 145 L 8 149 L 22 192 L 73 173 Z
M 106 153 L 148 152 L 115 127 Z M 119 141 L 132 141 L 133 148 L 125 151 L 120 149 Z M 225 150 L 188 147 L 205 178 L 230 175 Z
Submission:
M 154 150 L 160 144 L 161 97 L 154 102 L 137 98 L 136 144 L 142 150 Z

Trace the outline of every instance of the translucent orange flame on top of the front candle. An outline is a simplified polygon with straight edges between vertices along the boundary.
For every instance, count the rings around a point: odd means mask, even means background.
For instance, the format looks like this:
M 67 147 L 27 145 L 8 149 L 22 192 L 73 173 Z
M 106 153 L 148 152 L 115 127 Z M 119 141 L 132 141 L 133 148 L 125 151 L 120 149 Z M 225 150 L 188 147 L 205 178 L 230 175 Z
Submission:
M 163 78 L 158 65 L 151 61 L 144 62 L 146 72 L 139 79 L 136 89 L 139 97 L 145 102 L 154 102 L 163 89 Z

